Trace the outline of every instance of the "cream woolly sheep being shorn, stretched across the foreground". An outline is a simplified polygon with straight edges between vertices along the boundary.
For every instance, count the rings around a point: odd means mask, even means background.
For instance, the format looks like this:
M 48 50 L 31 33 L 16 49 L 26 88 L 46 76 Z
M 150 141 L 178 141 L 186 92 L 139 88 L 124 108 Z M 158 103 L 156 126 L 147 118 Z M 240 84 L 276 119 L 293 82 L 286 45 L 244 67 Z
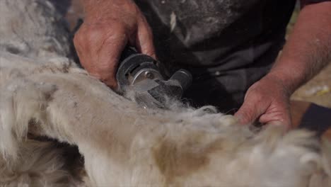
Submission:
M 330 143 L 313 132 L 253 130 L 210 106 L 143 109 L 67 58 L 47 0 L 0 13 L 0 186 L 331 186 Z M 57 142 L 79 148 L 86 173 Z

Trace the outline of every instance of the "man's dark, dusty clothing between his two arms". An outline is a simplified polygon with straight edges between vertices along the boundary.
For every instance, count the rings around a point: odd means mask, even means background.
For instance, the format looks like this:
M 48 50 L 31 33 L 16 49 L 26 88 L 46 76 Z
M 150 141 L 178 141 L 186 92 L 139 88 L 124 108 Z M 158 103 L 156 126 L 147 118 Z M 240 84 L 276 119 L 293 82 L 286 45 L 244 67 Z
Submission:
M 159 60 L 194 76 L 194 106 L 238 109 L 284 45 L 294 0 L 139 0 Z M 172 29 L 173 27 L 173 29 Z

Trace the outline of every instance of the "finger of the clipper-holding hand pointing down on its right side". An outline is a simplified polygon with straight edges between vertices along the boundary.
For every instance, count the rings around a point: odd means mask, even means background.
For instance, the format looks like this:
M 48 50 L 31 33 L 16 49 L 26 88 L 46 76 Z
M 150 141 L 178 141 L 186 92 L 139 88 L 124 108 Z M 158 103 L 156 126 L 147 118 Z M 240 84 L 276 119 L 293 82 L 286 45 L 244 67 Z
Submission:
M 139 23 L 136 38 L 136 47 L 139 52 L 156 58 L 155 47 L 153 45 L 153 33 L 146 20 Z

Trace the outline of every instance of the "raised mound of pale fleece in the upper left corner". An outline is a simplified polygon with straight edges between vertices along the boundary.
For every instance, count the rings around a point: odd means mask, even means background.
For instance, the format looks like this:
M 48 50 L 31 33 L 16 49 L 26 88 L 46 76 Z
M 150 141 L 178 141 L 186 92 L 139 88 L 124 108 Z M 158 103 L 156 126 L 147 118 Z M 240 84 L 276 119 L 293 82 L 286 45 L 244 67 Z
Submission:
M 66 28 L 50 1 L 1 0 L 0 50 L 24 57 L 69 55 Z

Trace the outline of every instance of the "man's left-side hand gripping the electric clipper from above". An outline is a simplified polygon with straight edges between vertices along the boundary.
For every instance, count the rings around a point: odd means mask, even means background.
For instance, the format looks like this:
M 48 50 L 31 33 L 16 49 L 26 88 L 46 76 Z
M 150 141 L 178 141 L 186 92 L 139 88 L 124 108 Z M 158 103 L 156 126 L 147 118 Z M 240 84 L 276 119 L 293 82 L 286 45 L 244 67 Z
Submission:
M 132 0 L 83 0 L 86 18 L 74 38 L 79 60 L 93 77 L 115 88 L 117 63 L 129 43 L 155 57 L 149 24 Z

